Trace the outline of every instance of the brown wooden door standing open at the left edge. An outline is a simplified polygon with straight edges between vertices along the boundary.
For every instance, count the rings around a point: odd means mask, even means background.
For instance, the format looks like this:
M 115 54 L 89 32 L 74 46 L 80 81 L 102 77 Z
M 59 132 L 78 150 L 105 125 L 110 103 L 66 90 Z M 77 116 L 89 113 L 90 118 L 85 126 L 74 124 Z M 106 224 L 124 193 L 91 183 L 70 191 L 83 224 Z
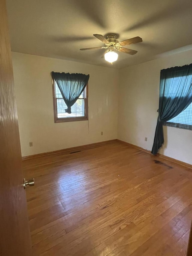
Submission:
M 0 1 L 0 255 L 31 255 L 5 0 Z

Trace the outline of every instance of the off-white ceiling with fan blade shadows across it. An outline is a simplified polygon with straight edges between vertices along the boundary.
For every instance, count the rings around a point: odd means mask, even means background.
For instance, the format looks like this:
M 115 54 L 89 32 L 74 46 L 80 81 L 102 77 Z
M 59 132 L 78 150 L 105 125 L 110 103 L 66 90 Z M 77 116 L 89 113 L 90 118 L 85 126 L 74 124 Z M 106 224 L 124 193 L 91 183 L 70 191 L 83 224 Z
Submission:
M 119 41 L 140 36 L 143 43 L 125 46 L 114 68 L 146 62 L 192 44 L 190 0 L 7 0 L 11 50 L 111 67 L 104 50 L 80 51 L 103 43 L 93 34 L 119 34 Z

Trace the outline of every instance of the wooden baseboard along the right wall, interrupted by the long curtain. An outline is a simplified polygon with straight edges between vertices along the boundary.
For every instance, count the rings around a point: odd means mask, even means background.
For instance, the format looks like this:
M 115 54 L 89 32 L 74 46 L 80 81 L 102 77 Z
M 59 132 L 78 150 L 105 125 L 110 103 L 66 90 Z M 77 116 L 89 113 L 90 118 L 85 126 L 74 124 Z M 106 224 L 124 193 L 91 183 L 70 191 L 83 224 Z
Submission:
M 118 140 L 118 139 L 117 139 L 117 141 L 119 141 L 120 143 L 123 143 L 123 144 L 125 144 L 125 145 L 131 146 L 131 147 L 133 147 L 133 148 L 136 148 L 136 149 L 139 149 L 139 150 L 142 150 L 142 151 L 145 151 L 145 152 L 151 154 L 151 150 L 149 150 L 149 149 L 144 149 L 144 148 L 142 148 L 142 147 L 139 147 L 139 146 L 136 146 L 136 145 L 134 145 L 134 144 L 125 142 L 125 141 L 123 141 L 123 140 Z M 171 162 L 173 162 L 173 163 L 180 164 L 180 165 L 185 166 L 185 167 L 188 167 L 188 168 L 192 168 L 192 164 L 188 164 L 188 163 L 182 162 L 182 161 L 177 160 L 177 159 L 175 159 L 175 158 L 172 158 L 172 157 L 169 157 L 169 156 L 166 156 L 166 155 L 162 155 L 162 154 L 159 154 L 159 153 L 157 153 L 156 156 L 158 156 L 158 157 L 160 157 L 160 158 L 163 158 L 163 159 L 166 159 L 166 160 L 169 160 L 169 161 L 171 161 Z

